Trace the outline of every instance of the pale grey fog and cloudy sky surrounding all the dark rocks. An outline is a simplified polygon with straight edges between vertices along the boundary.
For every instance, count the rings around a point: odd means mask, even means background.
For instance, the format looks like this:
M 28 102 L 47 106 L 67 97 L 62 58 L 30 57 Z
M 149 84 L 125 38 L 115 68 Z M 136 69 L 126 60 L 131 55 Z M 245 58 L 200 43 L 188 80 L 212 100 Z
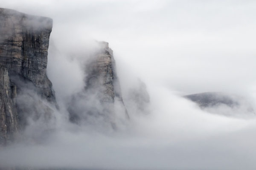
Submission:
M 256 168 L 254 117 L 211 114 L 182 97 L 225 92 L 241 95 L 255 107 L 256 2 L 0 0 L 0 4 L 53 19 L 47 75 L 59 105 L 59 110 L 52 108 L 54 125 L 47 135 L 41 133 L 43 122 L 32 121 L 21 141 L 0 148 L 2 167 Z M 118 119 L 117 130 L 95 119 L 94 125 L 79 126 L 67 120 L 67 101 L 84 88 L 84 63 L 98 48 L 95 40 L 109 42 L 114 52 L 130 116 L 125 122 Z M 150 97 L 143 109 L 129 96 L 140 89 L 140 82 Z M 216 109 L 224 115 L 233 112 Z M 236 114 L 243 111 L 236 109 Z

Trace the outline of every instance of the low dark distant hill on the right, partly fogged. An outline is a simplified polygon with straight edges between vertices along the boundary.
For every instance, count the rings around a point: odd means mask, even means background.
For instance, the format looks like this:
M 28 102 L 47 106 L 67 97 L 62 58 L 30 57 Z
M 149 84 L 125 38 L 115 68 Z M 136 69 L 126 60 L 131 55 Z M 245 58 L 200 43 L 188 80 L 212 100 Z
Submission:
M 191 94 L 184 97 L 197 103 L 201 109 L 209 113 L 239 118 L 256 116 L 253 105 L 250 104 L 248 99 L 241 96 L 207 92 Z

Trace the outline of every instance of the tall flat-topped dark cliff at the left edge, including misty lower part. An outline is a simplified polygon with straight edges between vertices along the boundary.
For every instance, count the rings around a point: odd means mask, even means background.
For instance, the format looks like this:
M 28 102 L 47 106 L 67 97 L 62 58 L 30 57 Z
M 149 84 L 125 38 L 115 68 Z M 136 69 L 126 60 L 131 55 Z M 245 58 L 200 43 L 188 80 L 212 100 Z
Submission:
M 55 103 L 52 83 L 46 75 L 51 31 L 50 18 L 0 8 L 1 143 L 19 123 L 26 124 L 26 116 L 40 117 L 39 113 L 32 115 L 38 106 L 38 110 L 49 112 L 48 106 L 35 103 L 43 103 L 41 99 Z

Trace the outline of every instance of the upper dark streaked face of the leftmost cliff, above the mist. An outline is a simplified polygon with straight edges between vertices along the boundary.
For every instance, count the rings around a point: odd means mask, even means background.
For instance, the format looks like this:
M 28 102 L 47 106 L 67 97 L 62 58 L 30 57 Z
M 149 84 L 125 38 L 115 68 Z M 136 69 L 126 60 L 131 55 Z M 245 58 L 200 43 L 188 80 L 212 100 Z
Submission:
M 52 19 L 0 8 L 0 64 L 10 74 L 31 81 L 48 101 L 54 101 L 46 75 Z

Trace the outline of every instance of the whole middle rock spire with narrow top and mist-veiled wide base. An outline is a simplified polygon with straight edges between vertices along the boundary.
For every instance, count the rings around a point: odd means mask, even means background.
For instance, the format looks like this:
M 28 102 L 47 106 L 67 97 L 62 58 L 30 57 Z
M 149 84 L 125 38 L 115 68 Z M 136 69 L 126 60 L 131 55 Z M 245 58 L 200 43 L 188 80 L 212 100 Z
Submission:
M 102 120 L 100 124 L 116 127 L 120 117 L 128 119 L 117 78 L 116 62 L 108 42 L 99 42 L 99 50 L 84 64 L 87 75 L 85 87 L 73 96 L 70 104 L 70 120 L 87 123 Z

